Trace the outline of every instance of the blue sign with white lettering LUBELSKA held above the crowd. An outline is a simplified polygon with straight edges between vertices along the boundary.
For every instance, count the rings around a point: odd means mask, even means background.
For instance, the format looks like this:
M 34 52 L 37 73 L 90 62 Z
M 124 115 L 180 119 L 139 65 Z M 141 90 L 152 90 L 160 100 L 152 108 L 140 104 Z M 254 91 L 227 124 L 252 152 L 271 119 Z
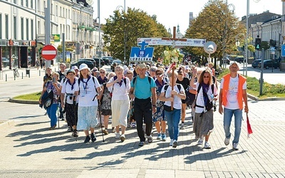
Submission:
M 140 61 L 152 61 L 153 56 L 153 47 L 147 47 L 148 43 L 145 43 L 145 41 L 142 41 L 142 43 L 138 43 L 138 46 L 140 47 L 132 47 L 130 51 L 130 61 L 133 62 L 140 62 Z

